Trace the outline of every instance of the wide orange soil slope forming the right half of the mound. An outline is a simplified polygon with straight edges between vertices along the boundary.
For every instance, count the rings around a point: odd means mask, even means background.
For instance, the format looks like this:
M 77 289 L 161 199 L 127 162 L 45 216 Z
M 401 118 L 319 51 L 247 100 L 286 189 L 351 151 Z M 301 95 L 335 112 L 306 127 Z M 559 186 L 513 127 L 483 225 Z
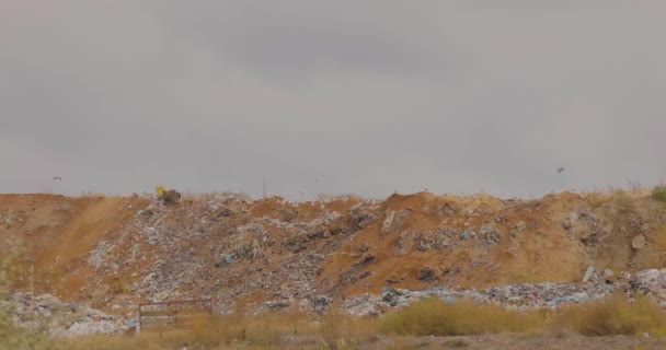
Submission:
M 644 194 L 563 192 L 530 201 L 485 195 L 394 195 L 378 211 L 406 218 L 398 225 L 393 219 L 388 230 L 378 220 L 357 234 L 343 246 L 343 254 L 325 262 L 325 284 L 348 285 L 351 294 L 376 293 L 387 284 L 416 290 L 441 283 L 483 288 L 578 281 L 588 265 L 616 272 L 666 266 L 665 207 Z M 480 235 L 493 228 L 501 237 L 487 244 Z M 451 235 L 437 248 L 433 234 L 443 230 Z M 475 237 L 461 240 L 461 234 Z M 636 235 L 650 244 L 633 249 Z M 374 259 L 365 266 L 368 256 Z M 420 280 L 424 269 L 433 273 Z M 363 276 L 367 277 L 358 278 Z

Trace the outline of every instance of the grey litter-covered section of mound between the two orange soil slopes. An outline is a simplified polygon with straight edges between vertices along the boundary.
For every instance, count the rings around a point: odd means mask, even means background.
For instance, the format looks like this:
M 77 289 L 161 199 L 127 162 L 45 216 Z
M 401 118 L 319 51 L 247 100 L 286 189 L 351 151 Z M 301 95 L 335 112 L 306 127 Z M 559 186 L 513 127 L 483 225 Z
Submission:
M 372 218 L 365 206 L 346 215 L 311 208 L 237 194 L 185 196 L 181 205 L 152 199 L 88 256 L 100 284 L 130 276 L 123 293 L 107 293 L 100 305 L 213 298 L 218 312 L 229 312 L 259 294 L 257 312 L 321 307 L 313 282 L 325 255 Z

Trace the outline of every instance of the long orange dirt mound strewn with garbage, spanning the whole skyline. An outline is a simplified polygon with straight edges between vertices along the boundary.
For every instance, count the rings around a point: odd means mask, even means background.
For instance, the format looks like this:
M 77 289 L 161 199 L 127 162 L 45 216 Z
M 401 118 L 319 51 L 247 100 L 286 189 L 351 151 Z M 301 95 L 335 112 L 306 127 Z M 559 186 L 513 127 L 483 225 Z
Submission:
M 123 310 L 207 296 L 222 308 L 315 307 L 387 287 L 577 282 L 587 266 L 665 267 L 665 224 L 666 206 L 646 191 L 301 203 L 221 194 L 170 206 L 139 196 L 0 196 L 0 237 L 27 248 L 22 289 Z

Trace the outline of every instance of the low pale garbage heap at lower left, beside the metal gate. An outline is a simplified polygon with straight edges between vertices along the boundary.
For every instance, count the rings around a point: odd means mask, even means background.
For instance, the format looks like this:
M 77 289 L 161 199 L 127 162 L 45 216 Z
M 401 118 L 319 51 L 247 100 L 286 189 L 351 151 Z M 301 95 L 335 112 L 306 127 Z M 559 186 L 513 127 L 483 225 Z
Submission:
M 50 294 L 11 294 L 0 301 L 0 308 L 16 326 L 56 337 L 118 334 L 128 330 L 131 324 L 88 306 L 64 303 Z

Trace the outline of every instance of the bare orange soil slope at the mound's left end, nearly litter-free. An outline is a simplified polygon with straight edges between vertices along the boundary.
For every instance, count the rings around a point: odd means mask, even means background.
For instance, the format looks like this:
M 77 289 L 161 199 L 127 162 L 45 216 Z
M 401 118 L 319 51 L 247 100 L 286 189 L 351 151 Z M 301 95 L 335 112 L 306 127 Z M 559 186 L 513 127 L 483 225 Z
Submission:
M 18 238 L 26 249 L 24 288 L 77 300 L 94 273 L 85 255 L 133 217 L 131 208 L 146 203 L 139 198 L 2 195 L 0 238 Z

